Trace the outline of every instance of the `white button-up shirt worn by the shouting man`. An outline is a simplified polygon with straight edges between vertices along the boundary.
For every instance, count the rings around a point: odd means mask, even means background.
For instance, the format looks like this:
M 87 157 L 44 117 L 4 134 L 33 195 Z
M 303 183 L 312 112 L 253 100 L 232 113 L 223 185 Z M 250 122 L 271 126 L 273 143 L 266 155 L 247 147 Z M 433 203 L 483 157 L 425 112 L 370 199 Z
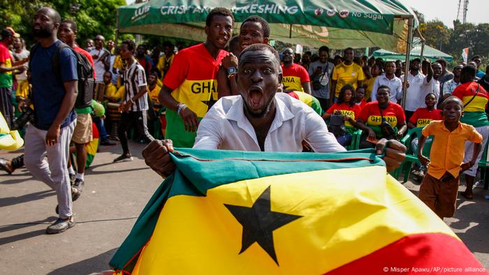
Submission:
M 346 151 L 311 107 L 284 93 L 275 94 L 275 101 L 277 112 L 265 138 L 265 151 L 300 152 L 302 140 L 316 152 Z M 242 96 L 220 98 L 200 121 L 194 148 L 261 151 L 244 108 Z

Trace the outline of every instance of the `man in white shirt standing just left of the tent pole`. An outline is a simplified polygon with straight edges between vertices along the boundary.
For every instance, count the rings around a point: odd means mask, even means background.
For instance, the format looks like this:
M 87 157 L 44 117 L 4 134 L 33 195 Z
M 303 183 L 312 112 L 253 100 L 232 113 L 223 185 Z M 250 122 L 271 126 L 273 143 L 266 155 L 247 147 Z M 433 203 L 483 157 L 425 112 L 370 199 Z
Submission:
M 379 75 L 379 77 L 375 78 L 374 87 L 372 88 L 372 101 L 377 101 L 377 89 L 382 85 L 386 85 L 391 89 L 391 96 L 389 97 L 389 101 L 393 103 L 398 103 L 402 98 L 402 82 L 399 77 L 395 76 L 395 62 L 387 61 L 386 62 L 386 73 Z

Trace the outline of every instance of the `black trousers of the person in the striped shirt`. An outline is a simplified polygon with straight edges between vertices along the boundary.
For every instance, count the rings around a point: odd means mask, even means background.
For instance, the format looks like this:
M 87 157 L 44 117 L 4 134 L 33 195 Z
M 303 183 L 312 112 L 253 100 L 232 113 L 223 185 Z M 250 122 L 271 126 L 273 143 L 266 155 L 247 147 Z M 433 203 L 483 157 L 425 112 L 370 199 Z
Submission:
M 127 144 L 127 131 L 132 124 L 136 125 L 136 129 L 140 133 L 141 137 L 146 140 L 152 141 L 154 137 L 147 131 L 146 125 L 147 117 L 146 111 L 139 112 L 123 112 L 119 126 L 117 126 L 117 136 L 122 145 L 123 154 L 129 154 L 129 144 Z

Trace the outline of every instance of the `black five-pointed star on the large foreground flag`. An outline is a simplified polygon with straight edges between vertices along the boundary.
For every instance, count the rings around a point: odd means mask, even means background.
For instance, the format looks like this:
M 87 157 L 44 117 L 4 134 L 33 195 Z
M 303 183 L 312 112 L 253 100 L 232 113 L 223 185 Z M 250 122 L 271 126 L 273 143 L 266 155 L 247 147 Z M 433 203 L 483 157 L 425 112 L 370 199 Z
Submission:
M 270 186 L 251 207 L 224 205 L 243 226 L 241 251 L 245 252 L 256 241 L 279 265 L 273 244 L 273 230 L 302 217 L 270 210 Z

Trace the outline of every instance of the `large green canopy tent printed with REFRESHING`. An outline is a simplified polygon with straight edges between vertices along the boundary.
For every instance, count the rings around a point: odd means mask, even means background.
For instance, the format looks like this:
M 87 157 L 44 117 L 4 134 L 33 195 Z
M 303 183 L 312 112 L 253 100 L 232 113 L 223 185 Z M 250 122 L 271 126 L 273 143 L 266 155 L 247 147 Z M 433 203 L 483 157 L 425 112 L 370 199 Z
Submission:
M 376 46 L 406 52 L 409 18 L 418 26 L 411 8 L 396 0 L 153 0 L 118 8 L 118 31 L 203 41 L 205 17 L 218 6 L 232 10 L 236 22 L 249 15 L 263 17 L 271 39 L 312 47 Z

